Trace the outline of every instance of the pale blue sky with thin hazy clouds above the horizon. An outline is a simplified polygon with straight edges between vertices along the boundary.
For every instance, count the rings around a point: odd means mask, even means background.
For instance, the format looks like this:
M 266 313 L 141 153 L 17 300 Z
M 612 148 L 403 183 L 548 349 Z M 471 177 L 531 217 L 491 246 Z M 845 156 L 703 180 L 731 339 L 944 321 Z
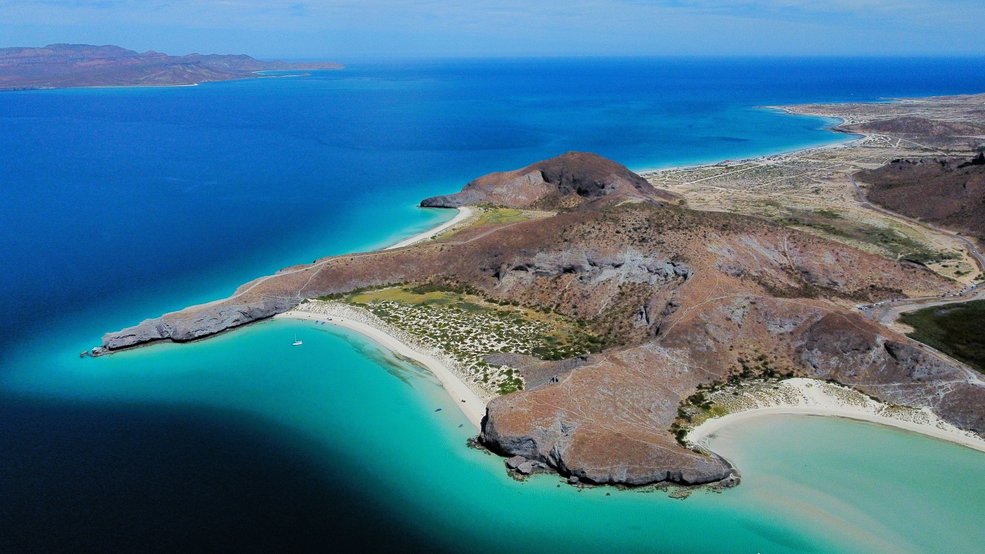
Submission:
M 0 47 L 260 58 L 985 55 L 985 0 L 0 0 Z

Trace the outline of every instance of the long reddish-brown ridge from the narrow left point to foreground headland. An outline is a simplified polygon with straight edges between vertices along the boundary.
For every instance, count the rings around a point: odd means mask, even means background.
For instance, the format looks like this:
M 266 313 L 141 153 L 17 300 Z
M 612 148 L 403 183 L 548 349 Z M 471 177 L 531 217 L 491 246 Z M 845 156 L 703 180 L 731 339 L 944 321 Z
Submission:
M 736 375 L 754 358 L 785 374 L 928 406 L 985 433 L 985 388 L 852 309 L 860 301 L 951 294 L 959 289 L 954 282 L 764 220 L 625 201 L 640 194 L 622 188 L 607 202 L 573 194 L 580 200 L 553 217 L 286 268 L 229 299 L 107 333 L 103 345 L 194 340 L 305 298 L 430 282 L 577 317 L 601 337 L 597 354 L 517 363 L 529 387 L 493 399 L 481 435 L 497 453 L 543 461 L 583 482 L 729 478 L 727 462 L 680 446 L 670 428 L 699 384 Z

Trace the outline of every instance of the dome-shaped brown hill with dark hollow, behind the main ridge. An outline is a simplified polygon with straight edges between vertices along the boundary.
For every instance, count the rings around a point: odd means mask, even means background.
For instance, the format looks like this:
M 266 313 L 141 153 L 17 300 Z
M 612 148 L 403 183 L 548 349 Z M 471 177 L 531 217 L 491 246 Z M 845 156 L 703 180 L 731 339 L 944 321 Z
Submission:
M 470 181 L 461 192 L 432 196 L 422 206 L 452 208 L 492 204 L 509 208 L 570 208 L 584 200 L 678 200 L 657 190 L 622 164 L 588 152 L 567 152 L 512 172 L 490 173 Z

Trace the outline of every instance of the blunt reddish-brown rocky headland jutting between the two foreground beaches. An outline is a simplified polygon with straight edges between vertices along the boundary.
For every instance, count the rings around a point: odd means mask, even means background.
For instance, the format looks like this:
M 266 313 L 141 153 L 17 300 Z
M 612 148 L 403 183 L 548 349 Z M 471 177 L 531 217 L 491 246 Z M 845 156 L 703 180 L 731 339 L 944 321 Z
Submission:
M 680 394 L 703 376 L 666 362 L 652 346 L 594 356 L 557 383 L 495 398 L 482 441 L 584 483 L 725 479 L 728 464 L 681 447 L 667 431 Z

